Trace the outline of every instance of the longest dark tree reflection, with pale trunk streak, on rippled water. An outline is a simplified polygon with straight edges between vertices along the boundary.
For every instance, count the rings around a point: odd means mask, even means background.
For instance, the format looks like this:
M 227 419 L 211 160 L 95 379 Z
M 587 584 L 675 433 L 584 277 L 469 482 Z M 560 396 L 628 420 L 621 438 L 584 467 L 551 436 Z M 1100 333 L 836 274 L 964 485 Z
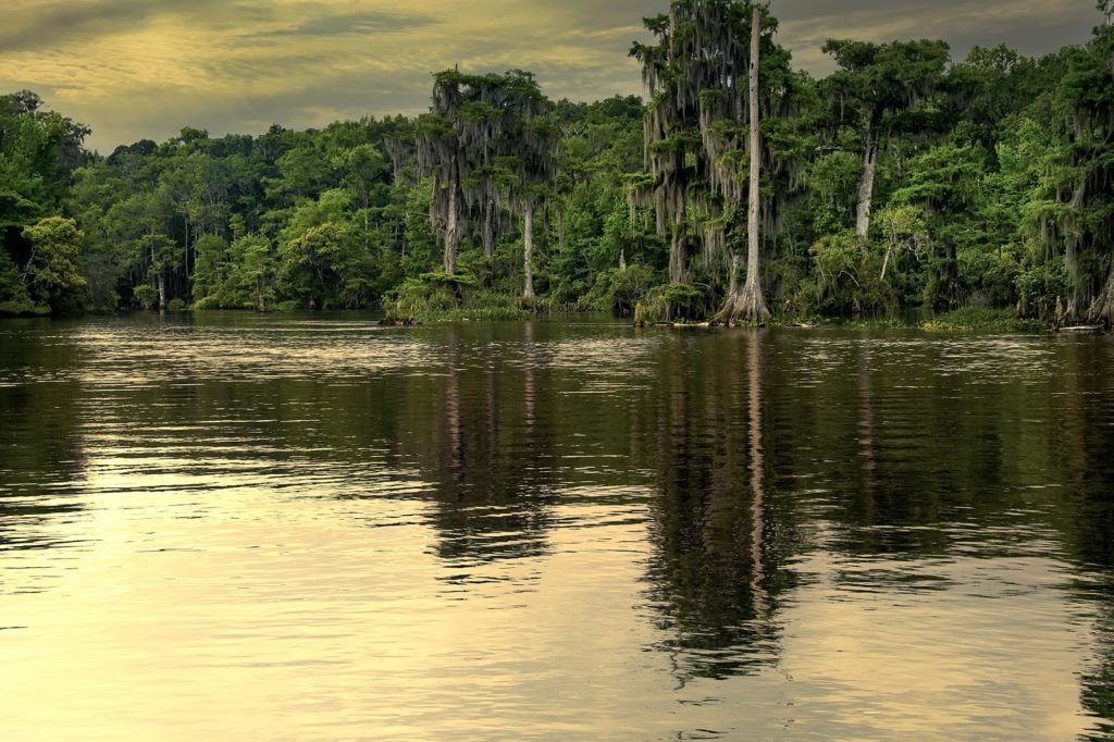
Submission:
M 773 660 L 776 641 L 770 617 L 786 575 L 778 569 L 780 546 L 769 541 L 769 339 L 740 340 L 703 352 L 677 340 L 659 381 L 649 578 L 658 625 L 670 634 L 662 648 L 682 682 L 751 672 Z

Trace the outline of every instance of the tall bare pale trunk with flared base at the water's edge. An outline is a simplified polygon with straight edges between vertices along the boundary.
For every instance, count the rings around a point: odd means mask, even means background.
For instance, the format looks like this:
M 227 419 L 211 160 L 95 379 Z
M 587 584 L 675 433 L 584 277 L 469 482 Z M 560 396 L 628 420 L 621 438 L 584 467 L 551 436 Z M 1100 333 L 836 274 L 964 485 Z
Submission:
M 746 193 L 746 282 L 739 286 L 739 272 L 742 261 L 737 255 L 733 258 L 731 285 L 723 311 L 716 318 L 724 324 L 733 324 L 737 319 L 759 323 L 770 318 L 765 297 L 762 295 L 762 246 L 759 216 L 761 207 L 761 172 L 762 172 L 762 131 L 759 115 L 759 61 L 762 43 L 762 6 L 755 3 L 751 17 L 751 70 L 750 70 L 750 107 L 751 107 L 751 180 Z

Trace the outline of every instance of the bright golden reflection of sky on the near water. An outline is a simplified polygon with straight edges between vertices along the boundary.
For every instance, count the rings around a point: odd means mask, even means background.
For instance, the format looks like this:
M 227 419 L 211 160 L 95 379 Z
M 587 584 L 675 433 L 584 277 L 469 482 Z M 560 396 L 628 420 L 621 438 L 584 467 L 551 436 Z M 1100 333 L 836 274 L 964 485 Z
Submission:
M 672 629 L 647 603 L 644 492 L 555 506 L 545 554 L 477 565 L 489 579 L 453 588 L 457 567 L 431 548 L 433 504 L 185 482 L 128 495 L 143 481 L 92 478 L 110 496 L 88 502 L 90 541 L 19 556 L 25 575 L 53 577 L 46 589 L 4 583 L 6 739 L 1068 739 L 1087 726 L 1075 673 L 1092 622 L 1051 558 L 817 550 L 789 565 L 800 585 L 765 618 L 776 644 L 735 648 L 762 663 L 713 681 L 686 673 L 706 652 L 661 650 Z M 934 579 L 897 577 L 918 570 Z

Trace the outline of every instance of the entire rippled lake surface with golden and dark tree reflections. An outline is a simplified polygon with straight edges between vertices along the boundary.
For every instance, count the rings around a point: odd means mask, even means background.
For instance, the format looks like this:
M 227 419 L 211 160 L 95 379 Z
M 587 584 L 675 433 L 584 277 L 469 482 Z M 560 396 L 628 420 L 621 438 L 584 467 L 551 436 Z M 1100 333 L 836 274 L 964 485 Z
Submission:
M 1103 739 L 1112 362 L 0 323 L 0 739 Z

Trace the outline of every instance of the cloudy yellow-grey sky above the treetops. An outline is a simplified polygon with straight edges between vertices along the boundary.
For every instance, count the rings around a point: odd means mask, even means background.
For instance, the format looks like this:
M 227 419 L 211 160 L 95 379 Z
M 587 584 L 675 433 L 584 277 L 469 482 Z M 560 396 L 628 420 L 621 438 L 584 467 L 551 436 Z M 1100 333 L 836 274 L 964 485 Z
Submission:
M 527 69 L 553 98 L 641 94 L 627 58 L 667 0 L 3 0 L 0 92 L 30 89 L 110 152 L 183 126 L 213 136 L 419 114 L 430 72 Z M 795 65 L 828 38 L 942 38 L 954 56 L 1085 41 L 1094 0 L 773 0 Z

